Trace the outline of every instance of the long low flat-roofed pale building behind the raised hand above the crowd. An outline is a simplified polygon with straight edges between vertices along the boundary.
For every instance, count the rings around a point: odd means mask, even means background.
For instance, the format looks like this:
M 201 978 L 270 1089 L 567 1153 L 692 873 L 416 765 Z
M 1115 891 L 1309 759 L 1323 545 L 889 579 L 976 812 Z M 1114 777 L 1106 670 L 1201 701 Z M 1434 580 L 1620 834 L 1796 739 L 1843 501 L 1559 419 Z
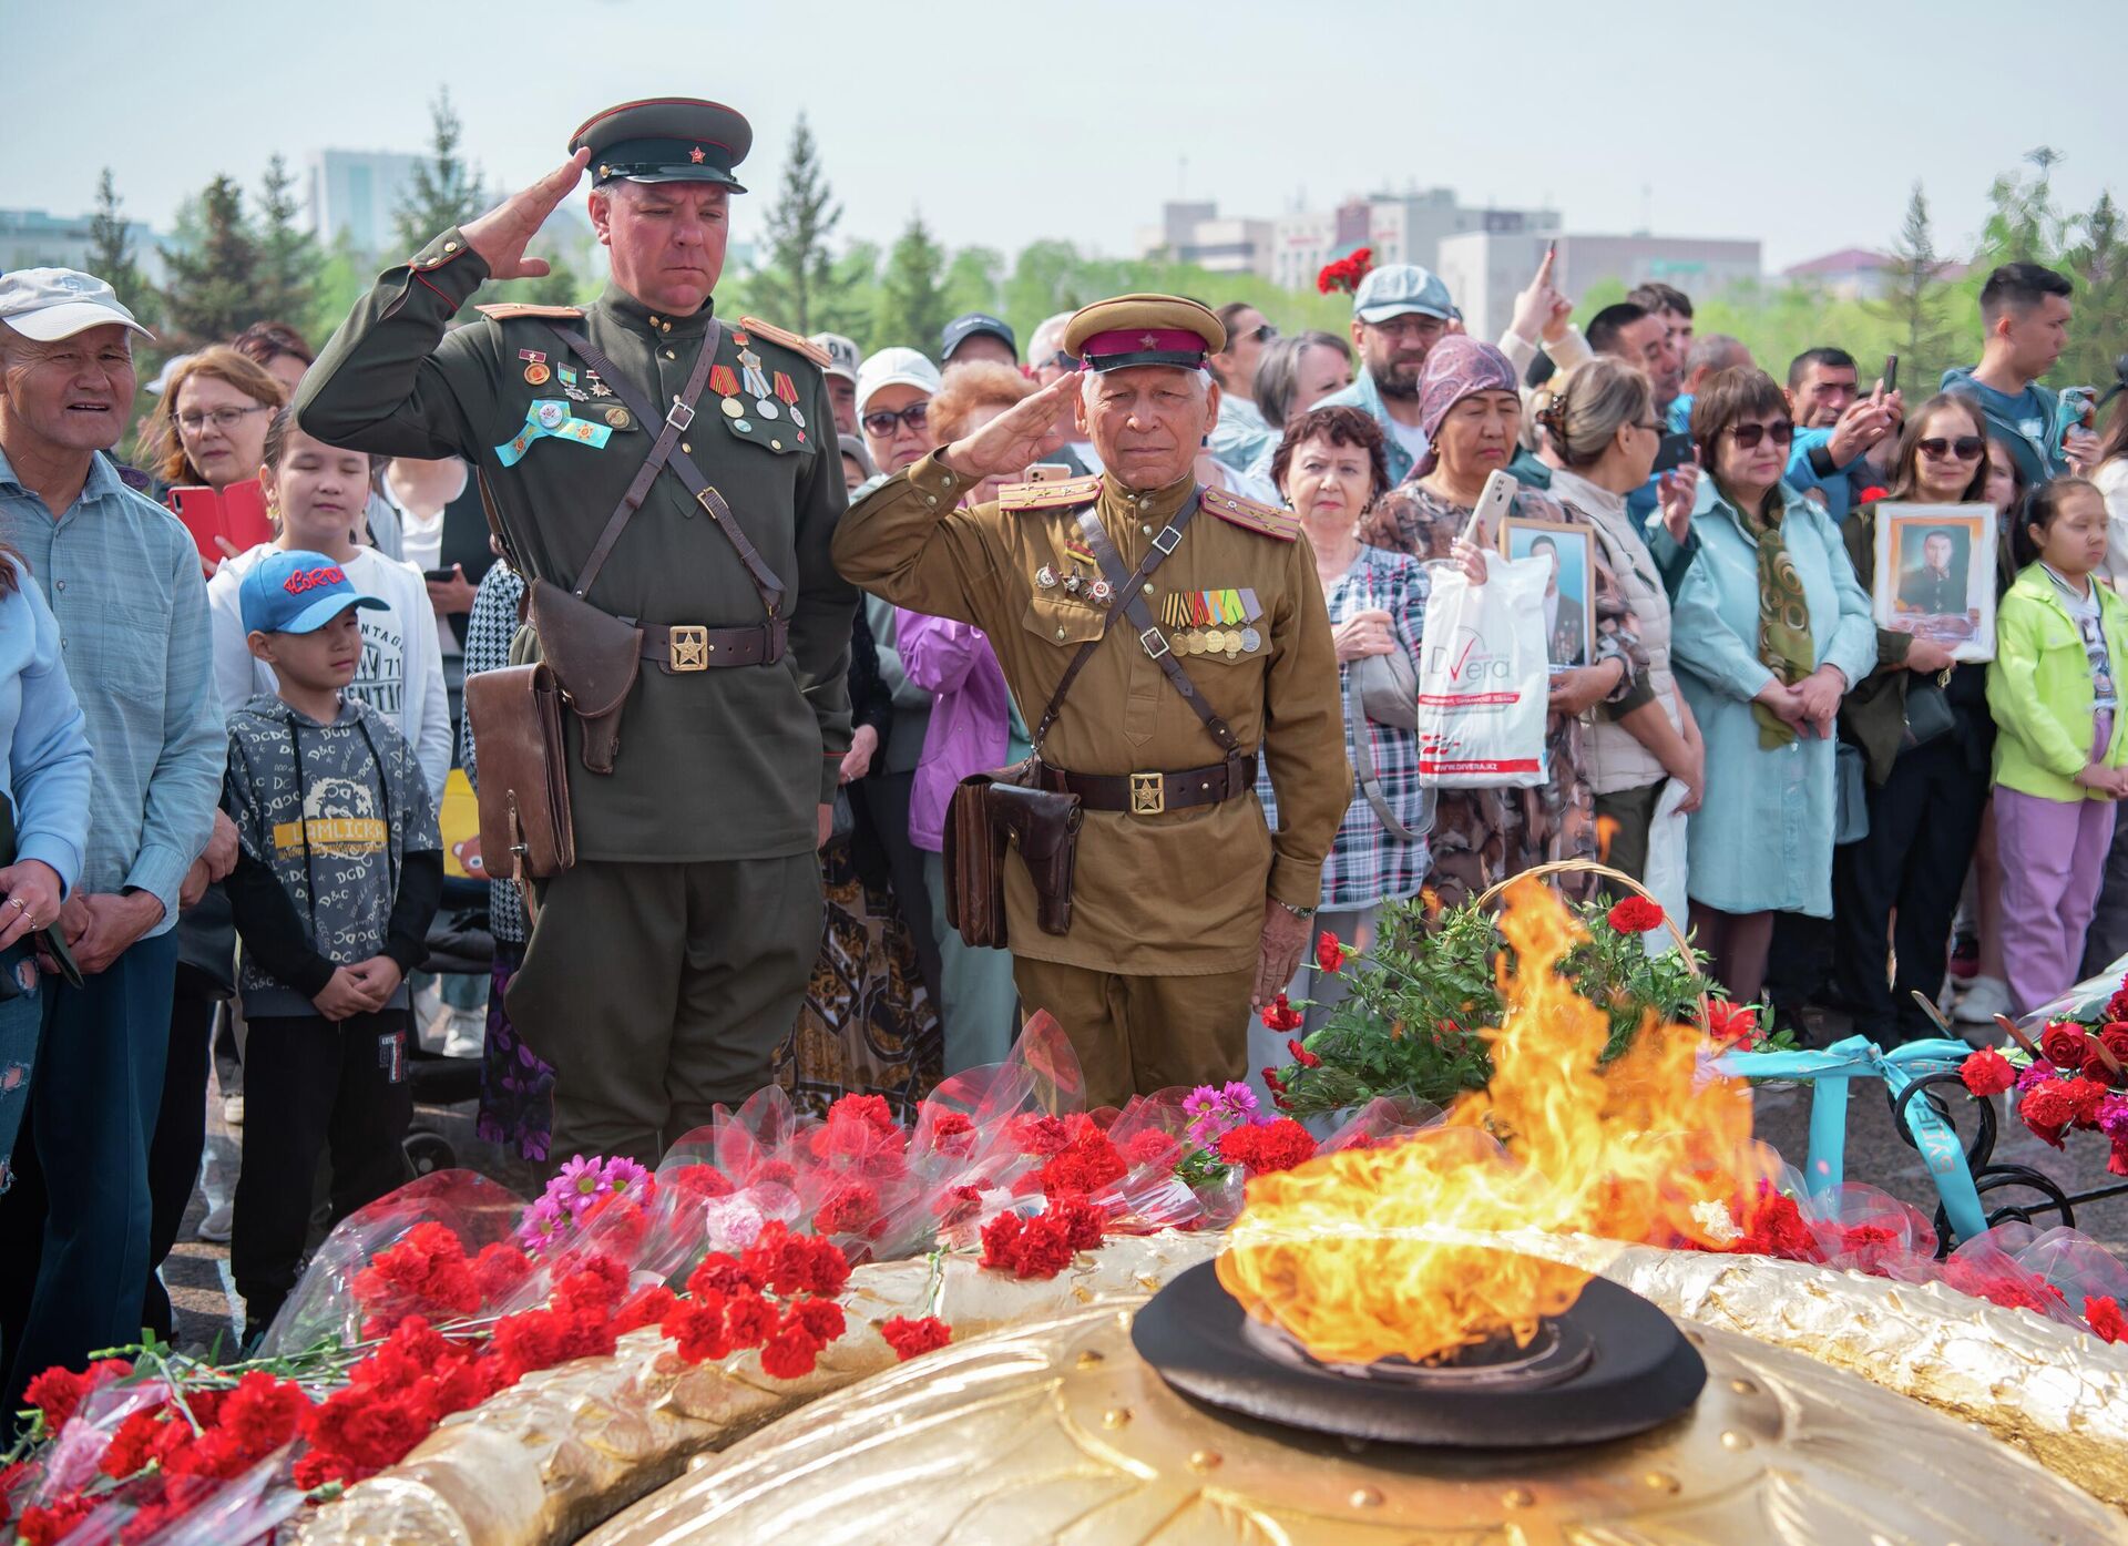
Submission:
M 1515 296 L 1536 264 L 1545 242 L 1560 245 L 1551 283 L 1577 300 L 1607 279 L 1626 289 L 1660 279 L 1688 296 L 1713 296 L 1730 285 L 1760 279 L 1756 240 L 1709 236 L 1585 236 L 1575 232 L 1475 230 L 1441 240 L 1430 268 L 1441 274 L 1462 308 L 1464 325 L 1479 338 L 1498 338 L 1515 313 Z M 1381 255 L 1377 253 L 1377 262 Z

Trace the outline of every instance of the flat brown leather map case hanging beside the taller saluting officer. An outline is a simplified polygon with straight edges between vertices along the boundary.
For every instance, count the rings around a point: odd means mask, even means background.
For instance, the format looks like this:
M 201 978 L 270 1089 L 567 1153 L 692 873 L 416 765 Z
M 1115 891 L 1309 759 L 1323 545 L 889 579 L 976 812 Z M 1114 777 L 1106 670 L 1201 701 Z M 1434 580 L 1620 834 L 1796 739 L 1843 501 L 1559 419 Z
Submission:
M 481 859 L 494 880 L 545 880 L 577 863 L 562 687 L 545 663 L 466 678 L 481 768 Z

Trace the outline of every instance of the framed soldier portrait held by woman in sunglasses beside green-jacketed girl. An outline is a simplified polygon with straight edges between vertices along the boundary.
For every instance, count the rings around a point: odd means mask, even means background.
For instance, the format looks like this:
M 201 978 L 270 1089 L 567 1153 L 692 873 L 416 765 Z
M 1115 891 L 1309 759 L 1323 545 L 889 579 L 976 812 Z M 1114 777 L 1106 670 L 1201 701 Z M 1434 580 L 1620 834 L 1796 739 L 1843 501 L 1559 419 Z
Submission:
M 1877 627 L 1994 659 L 1996 517 L 1988 504 L 1879 504 Z

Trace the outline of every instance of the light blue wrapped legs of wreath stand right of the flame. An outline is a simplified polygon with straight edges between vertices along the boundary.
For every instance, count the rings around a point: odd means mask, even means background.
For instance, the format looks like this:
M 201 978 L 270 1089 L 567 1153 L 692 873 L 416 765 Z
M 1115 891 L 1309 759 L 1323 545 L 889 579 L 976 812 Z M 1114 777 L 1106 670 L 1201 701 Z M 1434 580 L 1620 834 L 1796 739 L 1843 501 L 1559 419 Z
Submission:
M 1841 1184 L 1847 1165 L 1847 1087 L 1856 1078 L 1883 1080 L 1885 1093 L 1898 1097 L 1922 1078 L 1956 1074 L 1973 1055 L 1964 1042 L 1930 1038 L 1907 1042 L 1890 1053 L 1866 1036 L 1849 1036 L 1822 1053 L 1724 1053 L 1715 1068 L 1732 1078 L 1796 1078 L 1811 1082 L 1811 1153 L 1802 1167 L 1802 1184 L 1822 1197 Z M 1960 1240 L 1988 1229 L 1966 1148 L 1928 1097 L 1907 1102 L 1907 1131 L 1919 1150 L 1928 1174 L 1936 1178 L 1943 1214 Z

